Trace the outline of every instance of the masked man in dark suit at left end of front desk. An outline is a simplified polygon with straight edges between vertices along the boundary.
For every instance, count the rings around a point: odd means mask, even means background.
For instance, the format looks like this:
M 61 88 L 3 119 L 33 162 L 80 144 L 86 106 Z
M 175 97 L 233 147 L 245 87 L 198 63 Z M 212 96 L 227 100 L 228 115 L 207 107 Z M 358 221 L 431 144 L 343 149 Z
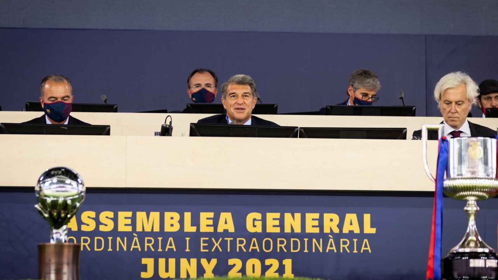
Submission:
M 62 75 L 46 76 L 41 80 L 40 91 L 40 103 L 45 114 L 23 123 L 90 125 L 69 115 L 74 95 L 68 78 Z

